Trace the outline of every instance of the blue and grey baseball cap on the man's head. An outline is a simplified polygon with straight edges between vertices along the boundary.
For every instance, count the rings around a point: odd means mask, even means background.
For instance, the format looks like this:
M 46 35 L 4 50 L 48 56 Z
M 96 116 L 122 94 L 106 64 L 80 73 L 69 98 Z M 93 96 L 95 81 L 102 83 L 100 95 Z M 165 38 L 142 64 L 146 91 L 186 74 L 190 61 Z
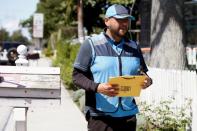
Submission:
M 131 20 L 135 20 L 135 17 L 131 16 L 124 6 L 118 4 L 114 4 L 107 9 L 105 13 L 105 18 L 110 17 L 114 17 L 116 19 L 128 18 Z

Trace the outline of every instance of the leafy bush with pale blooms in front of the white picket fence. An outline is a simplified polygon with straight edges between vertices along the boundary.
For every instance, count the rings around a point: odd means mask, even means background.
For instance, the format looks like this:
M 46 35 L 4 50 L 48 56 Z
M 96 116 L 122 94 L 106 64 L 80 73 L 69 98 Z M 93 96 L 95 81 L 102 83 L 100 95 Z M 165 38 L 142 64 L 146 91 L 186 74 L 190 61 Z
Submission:
M 186 99 L 185 105 L 175 107 L 175 99 L 164 100 L 160 103 L 147 104 L 141 102 L 139 117 L 144 118 L 145 123 L 141 125 L 142 131 L 185 131 L 191 124 L 191 100 Z

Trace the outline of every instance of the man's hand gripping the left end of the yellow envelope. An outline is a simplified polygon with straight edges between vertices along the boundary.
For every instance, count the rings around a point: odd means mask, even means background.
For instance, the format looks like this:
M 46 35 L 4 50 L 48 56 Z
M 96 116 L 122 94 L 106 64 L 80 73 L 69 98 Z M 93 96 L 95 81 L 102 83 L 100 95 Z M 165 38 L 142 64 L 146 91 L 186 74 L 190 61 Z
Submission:
M 97 88 L 98 93 L 102 93 L 111 97 L 118 95 L 118 90 L 118 85 L 110 85 L 107 83 L 101 83 Z

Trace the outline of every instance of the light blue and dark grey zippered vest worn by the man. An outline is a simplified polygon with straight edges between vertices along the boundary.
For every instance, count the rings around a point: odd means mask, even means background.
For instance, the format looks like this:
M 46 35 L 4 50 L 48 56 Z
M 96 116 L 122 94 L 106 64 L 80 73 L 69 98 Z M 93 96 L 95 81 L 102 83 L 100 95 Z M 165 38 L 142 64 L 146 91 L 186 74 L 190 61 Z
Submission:
M 104 33 L 89 38 L 92 48 L 90 70 L 96 83 L 107 83 L 110 77 L 138 75 L 142 55 L 134 41 L 114 41 Z M 113 117 L 124 117 L 138 113 L 133 97 L 109 97 L 96 93 L 96 109 Z

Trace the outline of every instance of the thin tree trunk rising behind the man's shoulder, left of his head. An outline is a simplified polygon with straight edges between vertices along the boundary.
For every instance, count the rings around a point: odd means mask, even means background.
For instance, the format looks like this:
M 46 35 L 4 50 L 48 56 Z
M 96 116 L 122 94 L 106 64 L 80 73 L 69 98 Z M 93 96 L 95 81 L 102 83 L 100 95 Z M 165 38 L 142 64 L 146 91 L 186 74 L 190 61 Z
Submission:
M 83 43 L 83 41 L 84 41 L 84 30 L 83 30 L 83 0 L 78 0 L 77 18 L 78 18 L 78 40 L 79 40 L 80 43 Z

